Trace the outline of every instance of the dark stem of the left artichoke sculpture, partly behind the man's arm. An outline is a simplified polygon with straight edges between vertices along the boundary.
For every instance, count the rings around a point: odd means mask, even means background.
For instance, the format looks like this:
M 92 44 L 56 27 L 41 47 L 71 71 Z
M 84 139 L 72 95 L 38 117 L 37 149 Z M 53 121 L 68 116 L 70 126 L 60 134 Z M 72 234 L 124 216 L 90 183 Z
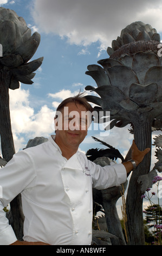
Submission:
M 12 136 L 10 108 L 9 108 L 9 84 L 10 74 L 5 68 L 0 70 L 0 133 L 1 133 L 1 149 L 5 160 L 10 161 L 15 154 L 14 139 Z M 12 220 L 12 227 L 14 228 L 18 240 L 22 240 L 23 236 L 23 221 L 24 216 L 22 212 L 21 194 L 18 194 L 10 202 L 11 215 L 9 221 Z

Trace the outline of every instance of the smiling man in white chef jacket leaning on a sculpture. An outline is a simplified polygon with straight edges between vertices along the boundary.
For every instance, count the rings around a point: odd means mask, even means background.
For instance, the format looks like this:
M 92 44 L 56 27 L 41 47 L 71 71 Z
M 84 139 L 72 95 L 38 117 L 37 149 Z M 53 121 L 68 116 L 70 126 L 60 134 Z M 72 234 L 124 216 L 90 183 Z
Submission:
M 0 244 L 90 245 L 92 187 L 120 186 L 150 150 L 141 152 L 133 142 L 131 161 L 106 167 L 90 162 L 78 148 L 92 112 L 82 95 L 64 100 L 56 112 L 56 135 L 15 154 L 1 169 Z M 17 241 L 3 212 L 18 193 L 25 216 L 24 241 Z

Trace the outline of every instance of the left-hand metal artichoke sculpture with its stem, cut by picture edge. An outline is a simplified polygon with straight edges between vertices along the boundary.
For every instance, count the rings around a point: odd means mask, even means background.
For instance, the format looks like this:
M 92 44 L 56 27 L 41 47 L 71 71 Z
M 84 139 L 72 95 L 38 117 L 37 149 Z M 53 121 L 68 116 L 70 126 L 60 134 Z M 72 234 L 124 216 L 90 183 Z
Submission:
M 3 159 L 7 162 L 15 154 L 12 137 L 9 89 L 20 87 L 20 82 L 32 84 L 34 71 L 42 64 L 43 58 L 29 62 L 40 44 L 40 34 L 31 35 L 24 19 L 15 11 L 0 8 L 0 44 L 3 56 L 0 57 L 0 134 Z M 17 239 L 22 239 L 23 213 L 21 197 L 18 195 L 11 203 L 13 226 Z

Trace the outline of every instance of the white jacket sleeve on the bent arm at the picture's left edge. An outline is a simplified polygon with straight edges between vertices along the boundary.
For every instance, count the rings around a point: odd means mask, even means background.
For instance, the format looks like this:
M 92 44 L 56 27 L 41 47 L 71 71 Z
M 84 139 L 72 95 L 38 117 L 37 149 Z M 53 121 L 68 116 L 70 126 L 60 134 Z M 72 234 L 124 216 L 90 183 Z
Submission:
M 7 165 L 0 169 L 0 245 L 10 245 L 17 240 L 3 208 L 25 187 L 33 186 L 35 176 L 34 162 L 24 151 L 15 154 Z

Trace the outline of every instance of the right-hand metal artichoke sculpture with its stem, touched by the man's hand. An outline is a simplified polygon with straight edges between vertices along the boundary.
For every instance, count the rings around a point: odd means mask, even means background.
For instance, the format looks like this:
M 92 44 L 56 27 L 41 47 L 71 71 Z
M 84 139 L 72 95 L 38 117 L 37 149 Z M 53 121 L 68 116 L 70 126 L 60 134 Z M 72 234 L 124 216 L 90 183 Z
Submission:
M 108 47 L 110 55 L 99 60 L 100 65 L 89 65 L 87 75 L 94 78 L 97 88 L 86 90 L 98 96 L 88 101 L 110 111 L 109 128 L 131 124 L 134 139 L 140 150 L 151 148 L 152 127 L 162 127 L 162 66 L 158 56 L 160 36 L 150 25 L 134 22 Z M 108 127 L 107 127 L 108 128 Z M 150 171 L 151 151 L 132 173 L 127 193 L 129 243 L 144 244 L 140 175 Z M 132 214 L 133 212 L 133 214 Z

